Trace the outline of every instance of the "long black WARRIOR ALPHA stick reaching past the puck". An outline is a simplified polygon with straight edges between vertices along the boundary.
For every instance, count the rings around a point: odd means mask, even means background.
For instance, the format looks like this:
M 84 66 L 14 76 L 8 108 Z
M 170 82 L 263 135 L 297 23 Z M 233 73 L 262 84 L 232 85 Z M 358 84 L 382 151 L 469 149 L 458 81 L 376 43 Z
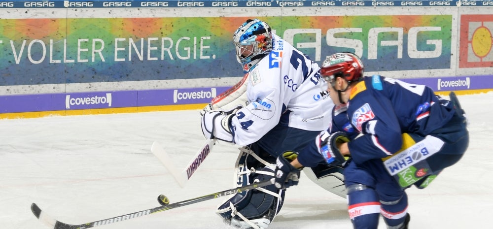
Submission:
M 152 213 L 162 212 L 162 211 L 170 210 L 173 208 L 183 207 L 186 205 L 190 205 L 190 204 L 194 204 L 194 203 L 198 203 L 198 202 L 202 202 L 202 201 L 206 201 L 206 200 L 210 200 L 210 199 L 215 199 L 215 198 L 219 198 L 219 197 L 223 197 L 223 196 L 241 193 L 241 192 L 244 192 L 247 190 L 252 190 L 252 189 L 256 189 L 256 188 L 260 188 L 260 187 L 274 184 L 274 181 L 275 181 L 275 178 L 272 178 L 270 180 L 266 180 L 266 181 L 262 181 L 262 182 L 258 182 L 258 183 L 253 183 L 251 185 L 246 185 L 243 187 L 228 189 L 228 190 L 225 190 L 222 192 L 212 193 L 212 194 L 208 194 L 205 196 L 199 196 L 199 197 L 195 197 L 192 199 L 187 199 L 187 200 L 183 200 L 180 202 L 167 204 L 165 206 L 149 208 L 149 209 L 145 209 L 145 210 L 141 210 L 141 211 L 137 211 L 137 212 L 121 215 L 121 216 L 115 216 L 112 218 L 108 218 L 108 219 L 104 219 L 104 220 L 98 220 L 98 221 L 89 222 L 89 223 L 85 223 L 85 224 L 79 224 L 79 225 L 66 224 L 66 223 L 62 223 L 62 222 L 58 221 L 58 220 L 54 219 L 53 217 L 51 217 L 50 215 L 48 215 L 47 213 L 45 213 L 44 211 L 42 211 L 35 203 L 31 204 L 31 211 L 33 211 L 33 214 L 35 215 L 36 218 L 38 218 L 41 222 L 43 222 L 44 224 L 46 224 L 47 226 L 49 226 L 52 229 L 86 229 L 86 228 L 94 228 L 94 227 L 98 227 L 98 226 L 112 224 L 112 223 L 116 223 L 116 222 L 120 222 L 120 221 L 124 221 L 124 220 L 130 220 L 130 219 L 134 219 L 137 217 L 149 215 Z

